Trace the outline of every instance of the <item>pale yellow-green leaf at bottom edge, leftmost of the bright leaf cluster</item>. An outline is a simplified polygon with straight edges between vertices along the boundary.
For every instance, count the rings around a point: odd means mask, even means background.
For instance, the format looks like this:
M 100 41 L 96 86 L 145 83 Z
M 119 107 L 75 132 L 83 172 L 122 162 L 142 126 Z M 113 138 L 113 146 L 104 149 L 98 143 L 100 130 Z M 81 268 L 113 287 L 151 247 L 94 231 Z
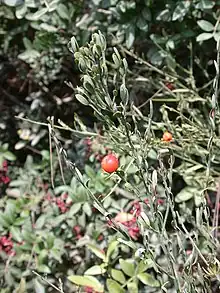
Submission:
M 78 286 L 88 286 L 94 288 L 97 292 L 104 292 L 104 287 L 95 277 L 73 275 L 69 276 L 68 280 Z

